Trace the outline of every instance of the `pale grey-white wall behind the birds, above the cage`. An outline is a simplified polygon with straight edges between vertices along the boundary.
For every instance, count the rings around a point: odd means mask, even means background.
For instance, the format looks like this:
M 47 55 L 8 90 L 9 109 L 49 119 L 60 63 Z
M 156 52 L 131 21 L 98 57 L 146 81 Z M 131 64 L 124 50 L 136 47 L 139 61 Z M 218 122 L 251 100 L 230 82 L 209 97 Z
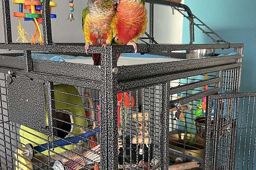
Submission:
M 52 13 L 57 14 L 57 19 L 52 19 L 52 40 L 54 42 L 84 42 L 81 28 L 81 13 L 87 0 L 74 0 L 74 21 L 67 20 L 69 14 L 68 0 L 54 0 L 58 6 Z M 10 0 L 11 15 L 18 11 L 18 5 Z M 147 4 L 148 8 L 148 4 Z M 0 6 L 0 21 L 3 21 L 2 6 Z M 154 37 L 159 43 L 181 43 L 183 17 L 172 8 L 166 6 L 154 6 Z M 149 13 L 149 8 L 148 8 Z M 16 42 L 18 19 L 12 17 L 12 39 Z M 4 42 L 3 25 L 0 24 L 0 42 Z M 22 26 L 29 38 L 34 34 L 35 26 L 32 21 L 23 21 Z M 41 29 L 42 30 L 42 29 Z

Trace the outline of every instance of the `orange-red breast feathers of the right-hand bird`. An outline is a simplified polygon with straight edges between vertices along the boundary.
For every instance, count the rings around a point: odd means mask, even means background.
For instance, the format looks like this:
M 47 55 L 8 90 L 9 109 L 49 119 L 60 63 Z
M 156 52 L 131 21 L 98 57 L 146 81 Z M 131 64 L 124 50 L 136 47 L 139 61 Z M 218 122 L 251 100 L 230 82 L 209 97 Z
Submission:
M 116 20 L 117 42 L 119 44 L 137 43 L 140 34 L 146 31 L 146 8 L 143 3 L 137 1 L 122 2 L 120 0 L 116 10 Z

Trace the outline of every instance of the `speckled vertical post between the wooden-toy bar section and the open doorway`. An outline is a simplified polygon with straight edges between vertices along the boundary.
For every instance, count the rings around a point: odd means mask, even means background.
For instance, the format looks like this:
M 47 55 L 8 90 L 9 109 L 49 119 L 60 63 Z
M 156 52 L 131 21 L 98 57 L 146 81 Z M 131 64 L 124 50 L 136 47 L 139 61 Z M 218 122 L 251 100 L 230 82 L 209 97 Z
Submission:
M 162 84 L 161 102 L 161 169 L 168 170 L 169 167 L 169 108 L 170 108 L 170 81 Z

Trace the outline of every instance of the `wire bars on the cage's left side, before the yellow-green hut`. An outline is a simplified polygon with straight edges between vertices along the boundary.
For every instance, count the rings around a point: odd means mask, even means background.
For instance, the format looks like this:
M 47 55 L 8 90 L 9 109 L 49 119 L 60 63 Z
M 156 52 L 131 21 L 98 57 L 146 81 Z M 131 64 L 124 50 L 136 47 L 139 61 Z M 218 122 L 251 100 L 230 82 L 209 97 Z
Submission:
M 10 122 L 6 74 L 0 74 L 0 83 L 1 169 L 46 170 L 56 161 L 61 161 L 67 170 L 100 168 L 98 91 L 54 83 L 54 133 L 50 136 Z M 33 146 L 32 160 L 24 156 L 26 144 Z

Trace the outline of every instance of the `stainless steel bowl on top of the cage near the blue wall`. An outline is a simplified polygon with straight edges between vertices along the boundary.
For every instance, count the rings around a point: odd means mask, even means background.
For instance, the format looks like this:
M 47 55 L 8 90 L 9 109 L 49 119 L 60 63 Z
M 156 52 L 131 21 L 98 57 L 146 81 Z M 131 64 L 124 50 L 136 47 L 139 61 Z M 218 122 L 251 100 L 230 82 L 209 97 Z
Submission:
M 187 50 L 187 59 L 197 59 L 204 57 L 213 57 L 215 54 L 215 49 L 199 49 L 199 50 Z

